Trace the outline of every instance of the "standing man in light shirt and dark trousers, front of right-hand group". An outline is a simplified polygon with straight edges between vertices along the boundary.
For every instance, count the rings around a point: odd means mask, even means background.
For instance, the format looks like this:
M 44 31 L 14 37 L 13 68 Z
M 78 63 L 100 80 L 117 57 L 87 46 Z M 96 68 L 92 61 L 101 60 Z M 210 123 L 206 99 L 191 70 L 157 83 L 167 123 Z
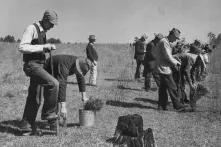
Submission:
M 172 100 L 173 107 L 177 111 L 185 110 L 184 105 L 180 103 L 177 86 L 173 80 L 171 70 L 171 67 L 175 67 L 176 69 L 178 69 L 178 66 L 181 65 L 181 63 L 172 56 L 172 48 L 170 46 L 170 42 L 176 41 L 177 39 L 179 39 L 179 36 L 180 31 L 176 28 L 173 28 L 167 37 L 162 38 L 159 41 L 156 48 L 157 70 L 160 75 L 160 86 L 158 91 L 158 109 L 160 110 L 167 110 L 168 93 Z

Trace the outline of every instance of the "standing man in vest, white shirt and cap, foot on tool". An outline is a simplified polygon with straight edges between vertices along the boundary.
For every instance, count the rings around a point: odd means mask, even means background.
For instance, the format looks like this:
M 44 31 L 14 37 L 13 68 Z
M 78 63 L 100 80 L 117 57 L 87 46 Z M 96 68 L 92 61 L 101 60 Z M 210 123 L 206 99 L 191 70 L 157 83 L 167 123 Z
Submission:
M 44 62 L 45 54 L 56 49 L 55 45 L 46 43 L 46 32 L 57 24 L 57 20 L 56 12 L 46 10 L 41 21 L 26 28 L 19 45 L 19 51 L 23 53 L 23 70 L 30 77 L 28 96 L 20 124 L 20 128 L 25 132 L 36 130 L 40 86 L 44 87 L 41 118 L 50 122 L 52 130 L 56 129 L 59 82 L 44 69 Z

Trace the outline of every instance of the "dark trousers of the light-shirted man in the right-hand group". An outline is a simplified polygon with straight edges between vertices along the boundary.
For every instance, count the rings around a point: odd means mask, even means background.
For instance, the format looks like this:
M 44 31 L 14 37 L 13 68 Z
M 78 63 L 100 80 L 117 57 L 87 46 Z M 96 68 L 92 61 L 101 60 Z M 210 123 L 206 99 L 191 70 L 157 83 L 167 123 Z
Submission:
M 175 109 L 179 109 L 183 107 L 180 103 L 179 94 L 177 91 L 176 83 L 173 80 L 172 74 L 164 75 L 160 74 L 160 87 L 159 87 L 159 102 L 158 105 L 162 106 L 163 108 L 167 107 L 168 102 L 168 93 L 170 95 L 171 101 L 173 103 L 173 107 Z

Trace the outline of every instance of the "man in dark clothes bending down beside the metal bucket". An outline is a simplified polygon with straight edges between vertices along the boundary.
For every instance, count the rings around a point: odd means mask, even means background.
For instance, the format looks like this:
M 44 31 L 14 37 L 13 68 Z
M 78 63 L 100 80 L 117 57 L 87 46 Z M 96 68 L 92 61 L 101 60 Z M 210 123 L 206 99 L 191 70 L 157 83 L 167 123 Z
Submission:
M 76 57 L 72 55 L 55 55 L 52 56 L 54 77 L 59 82 L 58 102 L 61 106 L 60 116 L 67 118 L 66 108 L 66 88 L 67 78 L 75 74 L 78 82 L 79 91 L 81 92 L 82 102 L 86 103 L 89 99 L 86 96 L 86 84 L 84 76 L 91 69 L 92 63 L 87 58 Z M 51 73 L 50 58 L 46 60 L 45 69 Z

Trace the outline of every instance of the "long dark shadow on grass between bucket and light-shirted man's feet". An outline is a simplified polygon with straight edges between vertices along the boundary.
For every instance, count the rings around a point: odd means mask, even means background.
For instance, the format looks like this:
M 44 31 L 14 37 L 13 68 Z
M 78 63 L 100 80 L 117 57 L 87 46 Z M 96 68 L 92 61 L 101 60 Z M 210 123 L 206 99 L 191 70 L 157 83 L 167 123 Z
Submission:
M 156 109 L 154 107 L 144 106 L 138 103 L 128 103 L 128 102 L 121 102 L 121 101 L 114 101 L 114 100 L 106 101 L 106 105 L 124 107 L 124 108 Z

